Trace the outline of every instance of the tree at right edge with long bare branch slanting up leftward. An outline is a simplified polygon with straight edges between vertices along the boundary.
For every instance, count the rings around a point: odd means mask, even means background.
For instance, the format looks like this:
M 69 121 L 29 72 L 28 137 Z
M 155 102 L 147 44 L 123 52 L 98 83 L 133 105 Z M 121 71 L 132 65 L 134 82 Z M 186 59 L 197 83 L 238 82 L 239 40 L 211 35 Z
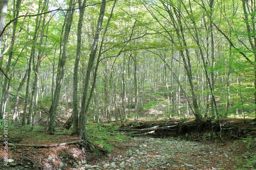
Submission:
M 238 3 L 239 6 L 240 3 Z M 203 5 L 200 5 L 205 11 L 206 8 Z M 234 9 L 234 4 L 232 5 Z M 244 22 L 242 22 L 244 25 L 242 25 L 242 28 L 245 27 L 246 31 L 242 31 L 243 36 L 242 39 L 239 36 L 236 36 L 236 39 L 230 38 L 225 31 L 220 28 L 220 26 L 218 26 L 218 24 L 214 21 L 211 20 L 212 24 L 215 26 L 215 28 L 226 38 L 226 40 L 229 42 L 229 44 L 235 49 L 237 50 L 245 60 L 247 60 L 247 62 L 249 62 L 252 67 L 253 67 L 253 74 L 254 74 L 254 105 L 256 105 L 256 37 L 254 36 L 255 32 L 256 32 L 256 27 L 255 27 L 255 1 L 254 0 L 250 0 L 250 1 L 245 1 L 242 0 L 242 11 L 243 11 L 243 15 L 244 16 L 239 16 L 239 18 L 241 18 L 241 20 L 244 20 Z M 221 14 L 224 16 L 225 21 L 227 22 L 227 25 L 229 26 L 229 29 L 231 29 L 232 31 L 236 30 L 236 26 L 233 22 L 233 20 L 231 20 L 232 22 L 230 22 L 228 19 L 228 15 L 227 15 L 227 11 L 225 11 L 226 8 L 224 9 L 224 11 L 221 11 Z M 241 10 L 241 8 L 238 8 L 236 10 Z M 207 11 L 208 12 L 208 11 Z M 232 15 L 234 14 L 234 12 L 232 11 Z M 238 21 L 238 25 L 241 24 L 240 20 Z M 241 26 L 240 26 L 241 27 Z M 240 34 L 240 33 L 239 33 Z M 236 41 L 240 42 L 240 44 L 236 44 Z M 247 43 L 248 42 L 248 43 Z M 243 47 L 244 50 L 242 50 L 240 47 Z M 250 55 L 253 55 L 253 59 L 251 59 Z M 256 107 L 254 106 L 254 112 L 255 112 L 255 116 L 256 116 Z

